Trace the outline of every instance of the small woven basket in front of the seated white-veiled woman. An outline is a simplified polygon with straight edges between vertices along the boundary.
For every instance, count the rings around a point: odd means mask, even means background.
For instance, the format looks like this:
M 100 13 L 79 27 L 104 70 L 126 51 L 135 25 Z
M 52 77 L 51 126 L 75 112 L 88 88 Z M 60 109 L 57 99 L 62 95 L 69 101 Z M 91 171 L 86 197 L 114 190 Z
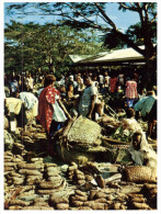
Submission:
M 126 166 L 124 177 L 129 182 L 156 182 L 156 171 L 146 166 Z

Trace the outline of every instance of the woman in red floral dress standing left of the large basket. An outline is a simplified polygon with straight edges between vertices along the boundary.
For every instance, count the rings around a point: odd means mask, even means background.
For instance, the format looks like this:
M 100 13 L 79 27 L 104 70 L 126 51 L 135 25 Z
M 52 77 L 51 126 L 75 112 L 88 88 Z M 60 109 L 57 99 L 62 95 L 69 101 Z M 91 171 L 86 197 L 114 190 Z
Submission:
M 51 142 L 51 134 L 62 127 L 61 122 L 57 122 L 54 119 L 57 116 L 54 111 L 55 103 L 58 102 L 62 111 L 67 114 L 68 119 L 71 119 L 64 104 L 60 102 L 60 92 L 54 88 L 56 81 L 55 76 L 47 75 L 45 77 L 44 89 L 38 99 L 38 115 L 37 120 L 46 131 L 48 138 L 47 150 L 50 156 L 55 155 L 54 145 Z M 55 116 L 54 116 L 55 115 Z M 59 116 L 59 115 L 58 115 Z

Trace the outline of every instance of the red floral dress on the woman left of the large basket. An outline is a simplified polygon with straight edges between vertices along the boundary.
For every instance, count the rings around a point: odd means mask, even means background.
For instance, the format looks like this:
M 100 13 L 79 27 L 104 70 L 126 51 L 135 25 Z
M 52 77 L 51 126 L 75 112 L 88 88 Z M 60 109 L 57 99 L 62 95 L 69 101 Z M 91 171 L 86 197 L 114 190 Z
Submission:
M 38 115 L 37 120 L 41 121 L 42 126 L 49 133 L 49 127 L 53 121 L 53 106 L 55 104 L 55 97 L 59 95 L 60 92 L 53 88 L 46 87 L 38 99 Z

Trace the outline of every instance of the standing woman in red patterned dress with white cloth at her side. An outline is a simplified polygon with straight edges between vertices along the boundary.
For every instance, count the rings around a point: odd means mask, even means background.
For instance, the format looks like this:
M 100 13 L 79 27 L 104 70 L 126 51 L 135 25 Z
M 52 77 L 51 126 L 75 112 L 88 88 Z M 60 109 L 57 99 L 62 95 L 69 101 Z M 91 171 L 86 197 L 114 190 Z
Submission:
M 47 75 L 45 77 L 45 88 L 41 92 L 38 99 L 37 120 L 41 121 L 48 138 L 51 137 L 54 132 L 62 127 L 64 122 L 67 120 L 65 113 L 70 119 L 69 113 L 60 101 L 60 92 L 54 88 L 55 81 L 56 78 L 53 75 Z

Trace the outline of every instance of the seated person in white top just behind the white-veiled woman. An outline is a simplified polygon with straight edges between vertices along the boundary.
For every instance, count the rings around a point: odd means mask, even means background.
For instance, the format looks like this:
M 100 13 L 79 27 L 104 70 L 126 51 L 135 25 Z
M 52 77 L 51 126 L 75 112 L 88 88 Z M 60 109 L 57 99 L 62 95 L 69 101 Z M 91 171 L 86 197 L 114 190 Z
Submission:
M 124 124 L 123 127 L 133 132 L 142 131 L 139 123 L 135 120 L 135 110 L 129 108 L 126 112 L 127 119 L 123 119 L 122 123 Z

